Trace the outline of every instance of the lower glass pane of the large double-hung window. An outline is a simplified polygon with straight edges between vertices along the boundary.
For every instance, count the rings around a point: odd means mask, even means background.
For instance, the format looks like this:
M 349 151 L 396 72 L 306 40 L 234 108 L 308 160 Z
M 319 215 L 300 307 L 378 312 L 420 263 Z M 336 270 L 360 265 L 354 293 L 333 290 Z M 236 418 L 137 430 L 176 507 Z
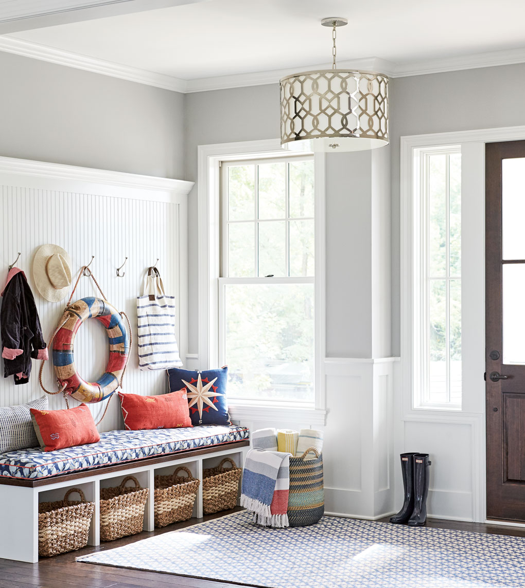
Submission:
M 313 284 L 224 288 L 228 395 L 313 402 Z

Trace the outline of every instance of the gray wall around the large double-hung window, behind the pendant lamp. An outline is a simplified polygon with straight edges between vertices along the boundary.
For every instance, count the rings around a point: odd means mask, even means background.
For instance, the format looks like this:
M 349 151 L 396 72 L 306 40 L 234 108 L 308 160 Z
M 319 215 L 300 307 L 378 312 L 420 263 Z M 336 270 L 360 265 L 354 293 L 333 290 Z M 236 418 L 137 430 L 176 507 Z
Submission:
M 252 86 L 186 96 L 186 173 L 197 182 L 197 146 L 280 136 L 279 86 Z M 383 150 L 381 150 L 383 151 Z M 389 356 L 390 153 L 329 153 L 326 158 L 327 356 Z M 373 173 L 381 181 L 373 181 Z M 374 203 L 371 195 L 374 194 Z M 385 202 L 386 201 L 386 202 Z M 381 208 L 373 248 L 373 206 Z M 385 216 L 386 214 L 386 216 Z M 190 353 L 197 353 L 197 187 L 188 209 Z M 386 240 L 384 240 L 386 236 Z M 374 258 L 373 258 L 374 256 Z M 383 275 L 372 261 L 383 263 Z M 377 267 L 377 266 L 376 266 Z M 374 297 L 373 288 L 381 289 Z

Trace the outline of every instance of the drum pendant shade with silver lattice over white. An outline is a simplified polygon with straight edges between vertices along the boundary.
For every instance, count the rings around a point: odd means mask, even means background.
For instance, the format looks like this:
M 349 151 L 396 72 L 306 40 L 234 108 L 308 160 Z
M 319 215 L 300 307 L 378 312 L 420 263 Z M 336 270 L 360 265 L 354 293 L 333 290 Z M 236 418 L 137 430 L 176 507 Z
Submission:
M 388 145 L 388 78 L 325 69 L 281 79 L 281 144 L 306 151 Z

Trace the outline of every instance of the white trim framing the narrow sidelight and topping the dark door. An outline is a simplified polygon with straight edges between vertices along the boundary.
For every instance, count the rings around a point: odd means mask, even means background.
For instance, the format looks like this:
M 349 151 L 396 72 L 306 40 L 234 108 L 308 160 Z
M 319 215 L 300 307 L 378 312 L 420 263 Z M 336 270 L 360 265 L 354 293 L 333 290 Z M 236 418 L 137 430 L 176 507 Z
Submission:
M 492 129 L 476 129 L 427 135 L 402 136 L 400 139 L 400 245 L 401 245 L 401 390 L 403 390 L 404 420 L 436 420 L 443 422 L 479 418 L 485 413 L 483 372 L 485 366 L 484 338 L 484 209 L 479 205 L 479 195 L 484 193 L 484 173 L 479 172 L 484 161 L 484 143 L 525 139 L 525 126 Z M 475 263 L 463 264 L 461 299 L 476 301 L 462 309 L 463 393 L 461 410 L 445 410 L 413 406 L 413 185 L 414 150 L 433 146 L 461 145 L 461 256 Z M 467 222 L 467 219 L 473 222 Z M 483 229 L 480 227 L 483 226 Z M 469 238 L 467 239 L 467 232 Z M 471 243 L 473 250 L 466 249 Z M 466 340 L 466 336 L 468 340 Z M 465 386 L 468 382 L 468 386 Z M 440 421 L 441 422 L 441 421 Z M 484 434 L 484 427 L 483 434 Z M 484 462 L 483 462 L 484 463 Z M 483 466 L 484 467 L 484 466 Z M 483 476 L 481 476 L 483 477 Z M 481 479 L 481 478 L 480 478 Z M 483 482 L 484 483 L 484 482 Z

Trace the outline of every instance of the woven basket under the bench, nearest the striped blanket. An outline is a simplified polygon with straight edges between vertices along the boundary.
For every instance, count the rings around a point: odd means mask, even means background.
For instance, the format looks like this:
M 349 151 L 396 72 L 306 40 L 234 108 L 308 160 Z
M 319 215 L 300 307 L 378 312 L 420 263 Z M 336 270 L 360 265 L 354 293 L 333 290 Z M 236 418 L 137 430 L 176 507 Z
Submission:
M 223 467 L 230 462 L 231 467 Z M 237 505 L 242 469 L 225 457 L 217 467 L 202 472 L 202 511 L 205 515 L 232 509 Z

